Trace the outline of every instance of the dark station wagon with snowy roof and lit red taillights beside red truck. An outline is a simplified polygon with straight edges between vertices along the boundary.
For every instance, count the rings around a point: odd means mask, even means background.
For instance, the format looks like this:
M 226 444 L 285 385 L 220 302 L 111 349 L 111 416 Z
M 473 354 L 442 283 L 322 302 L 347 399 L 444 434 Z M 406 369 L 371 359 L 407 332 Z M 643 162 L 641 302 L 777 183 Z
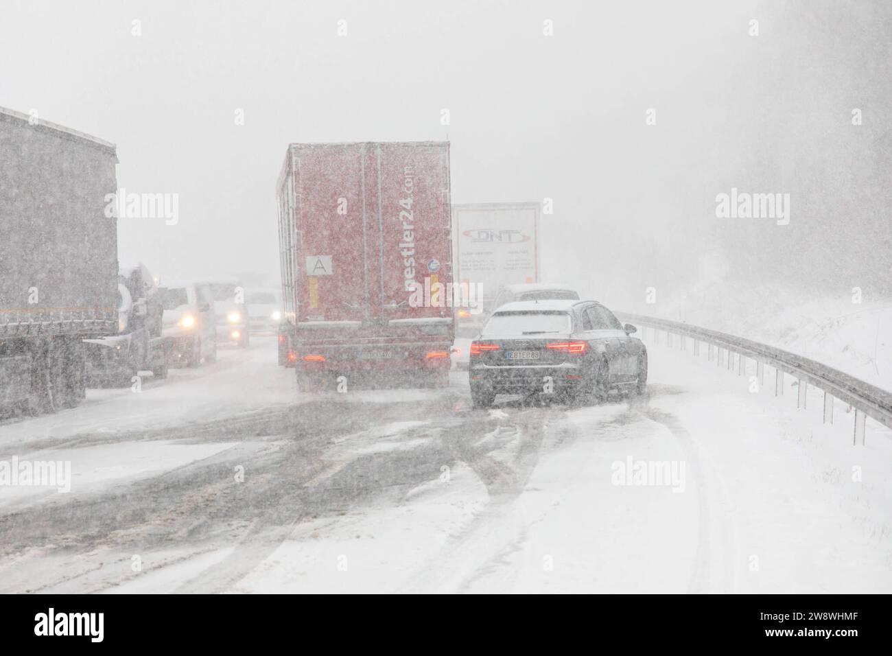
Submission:
M 616 390 L 642 394 L 648 352 L 594 301 L 523 301 L 495 311 L 471 343 L 468 376 L 475 407 L 497 394 L 554 394 L 598 403 Z

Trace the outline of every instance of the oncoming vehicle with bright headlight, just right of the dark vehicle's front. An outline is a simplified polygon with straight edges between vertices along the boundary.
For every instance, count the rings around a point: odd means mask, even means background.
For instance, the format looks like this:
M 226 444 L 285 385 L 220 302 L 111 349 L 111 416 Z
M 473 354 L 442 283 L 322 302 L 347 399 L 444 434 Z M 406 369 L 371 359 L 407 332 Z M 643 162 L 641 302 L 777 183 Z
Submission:
M 213 294 L 205 284 L 161 287 L 162 334 L 172 341 L 172 366 L 197 367 L 217 359 Z

